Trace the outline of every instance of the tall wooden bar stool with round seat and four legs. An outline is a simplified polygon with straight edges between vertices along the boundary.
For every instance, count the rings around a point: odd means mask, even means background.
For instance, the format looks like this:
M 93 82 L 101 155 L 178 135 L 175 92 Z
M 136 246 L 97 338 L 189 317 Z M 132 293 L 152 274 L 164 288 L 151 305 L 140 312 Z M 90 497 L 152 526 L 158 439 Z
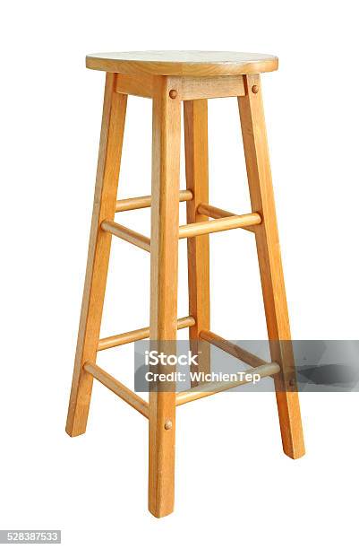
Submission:
M 175 406 L 239 385 L 224 383 L 206 392 L 150 392 L 145 402 L 96 365 L 100 350 L 150 337 L 175 341 L 190 328 L 193 345 L 205 340 L 275 380 L 283 449 L 304 454 L 295 365 L 278 244 L 269 168 L 260 73 L 278 68 L 278 58 L 247 53 L 153 51 L 87 57 L 91 69 L 106 71 L 98 173 L 90 230 L 73 387 L 66 431 L 86 431 L 93 379 L 103 383 L 149 419 L 149 509 L 163 517 L 174 507 Z M 117 200 L 127 95 L 153 100 L 151 196 Z M 237 97 L 252 212 L 237 215 L 209 205 L 207 100 Z M 179 190 L 181 102 L 187 190 Z M 179 202 L 187 202 L 188 224 L 179 227 Z M 114 222 L 116 212 L 151 207 L 150 239 Z M 209 220 L 209 218 L 211 218 Z M 255 235 L 271 363 L 209 331 L 209 233 L 243 228 Z M 151 254 L 150 327 L 99 339 L 112 235 Z M 188 239 L 189 316 L 177 319 L 178 239 Z

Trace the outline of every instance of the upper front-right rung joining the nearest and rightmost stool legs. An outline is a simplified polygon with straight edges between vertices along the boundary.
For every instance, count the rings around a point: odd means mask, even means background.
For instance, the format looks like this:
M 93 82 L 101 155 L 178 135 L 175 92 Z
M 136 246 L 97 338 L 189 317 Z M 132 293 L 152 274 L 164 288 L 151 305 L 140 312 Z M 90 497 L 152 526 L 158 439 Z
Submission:
M 179 228 L 179 238 L 189 239 L 201 234 L 210 232 L 229 231 L 230 229 L 239 229 L 250 225 L 259 225 L 261 215 L 259 213 L 244 213 L 244 215 L 231 215 L 230 217 L 221 217 L 208 222 L 190 223 L 182 225 Z

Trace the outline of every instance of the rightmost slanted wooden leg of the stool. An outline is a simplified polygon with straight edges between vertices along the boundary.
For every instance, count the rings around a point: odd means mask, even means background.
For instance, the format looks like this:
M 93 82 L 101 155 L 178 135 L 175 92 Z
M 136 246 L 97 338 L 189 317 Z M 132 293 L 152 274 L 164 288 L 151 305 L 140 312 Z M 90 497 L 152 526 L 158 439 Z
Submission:
M 261 213 L 255 230 L 270 353 L 281 372 L 275 377 L 283 449 L 302 457 L 302 420 L 295 387 L 295 363 L 286 305 L 278 228 L 269 167 L 269 152 L 258 74 L 245 76 L 246 94 L 238 98 L 252 211 Z

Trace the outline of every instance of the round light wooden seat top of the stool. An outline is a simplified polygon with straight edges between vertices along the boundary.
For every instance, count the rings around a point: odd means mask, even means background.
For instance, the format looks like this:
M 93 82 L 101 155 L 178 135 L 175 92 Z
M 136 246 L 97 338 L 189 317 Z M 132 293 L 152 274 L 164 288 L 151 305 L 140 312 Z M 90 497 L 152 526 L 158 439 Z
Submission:
M 278 57 L 235 51 L 123 51 L 90 54 L 86 66 L 107 73 L 226 76 L 275 71 Z

